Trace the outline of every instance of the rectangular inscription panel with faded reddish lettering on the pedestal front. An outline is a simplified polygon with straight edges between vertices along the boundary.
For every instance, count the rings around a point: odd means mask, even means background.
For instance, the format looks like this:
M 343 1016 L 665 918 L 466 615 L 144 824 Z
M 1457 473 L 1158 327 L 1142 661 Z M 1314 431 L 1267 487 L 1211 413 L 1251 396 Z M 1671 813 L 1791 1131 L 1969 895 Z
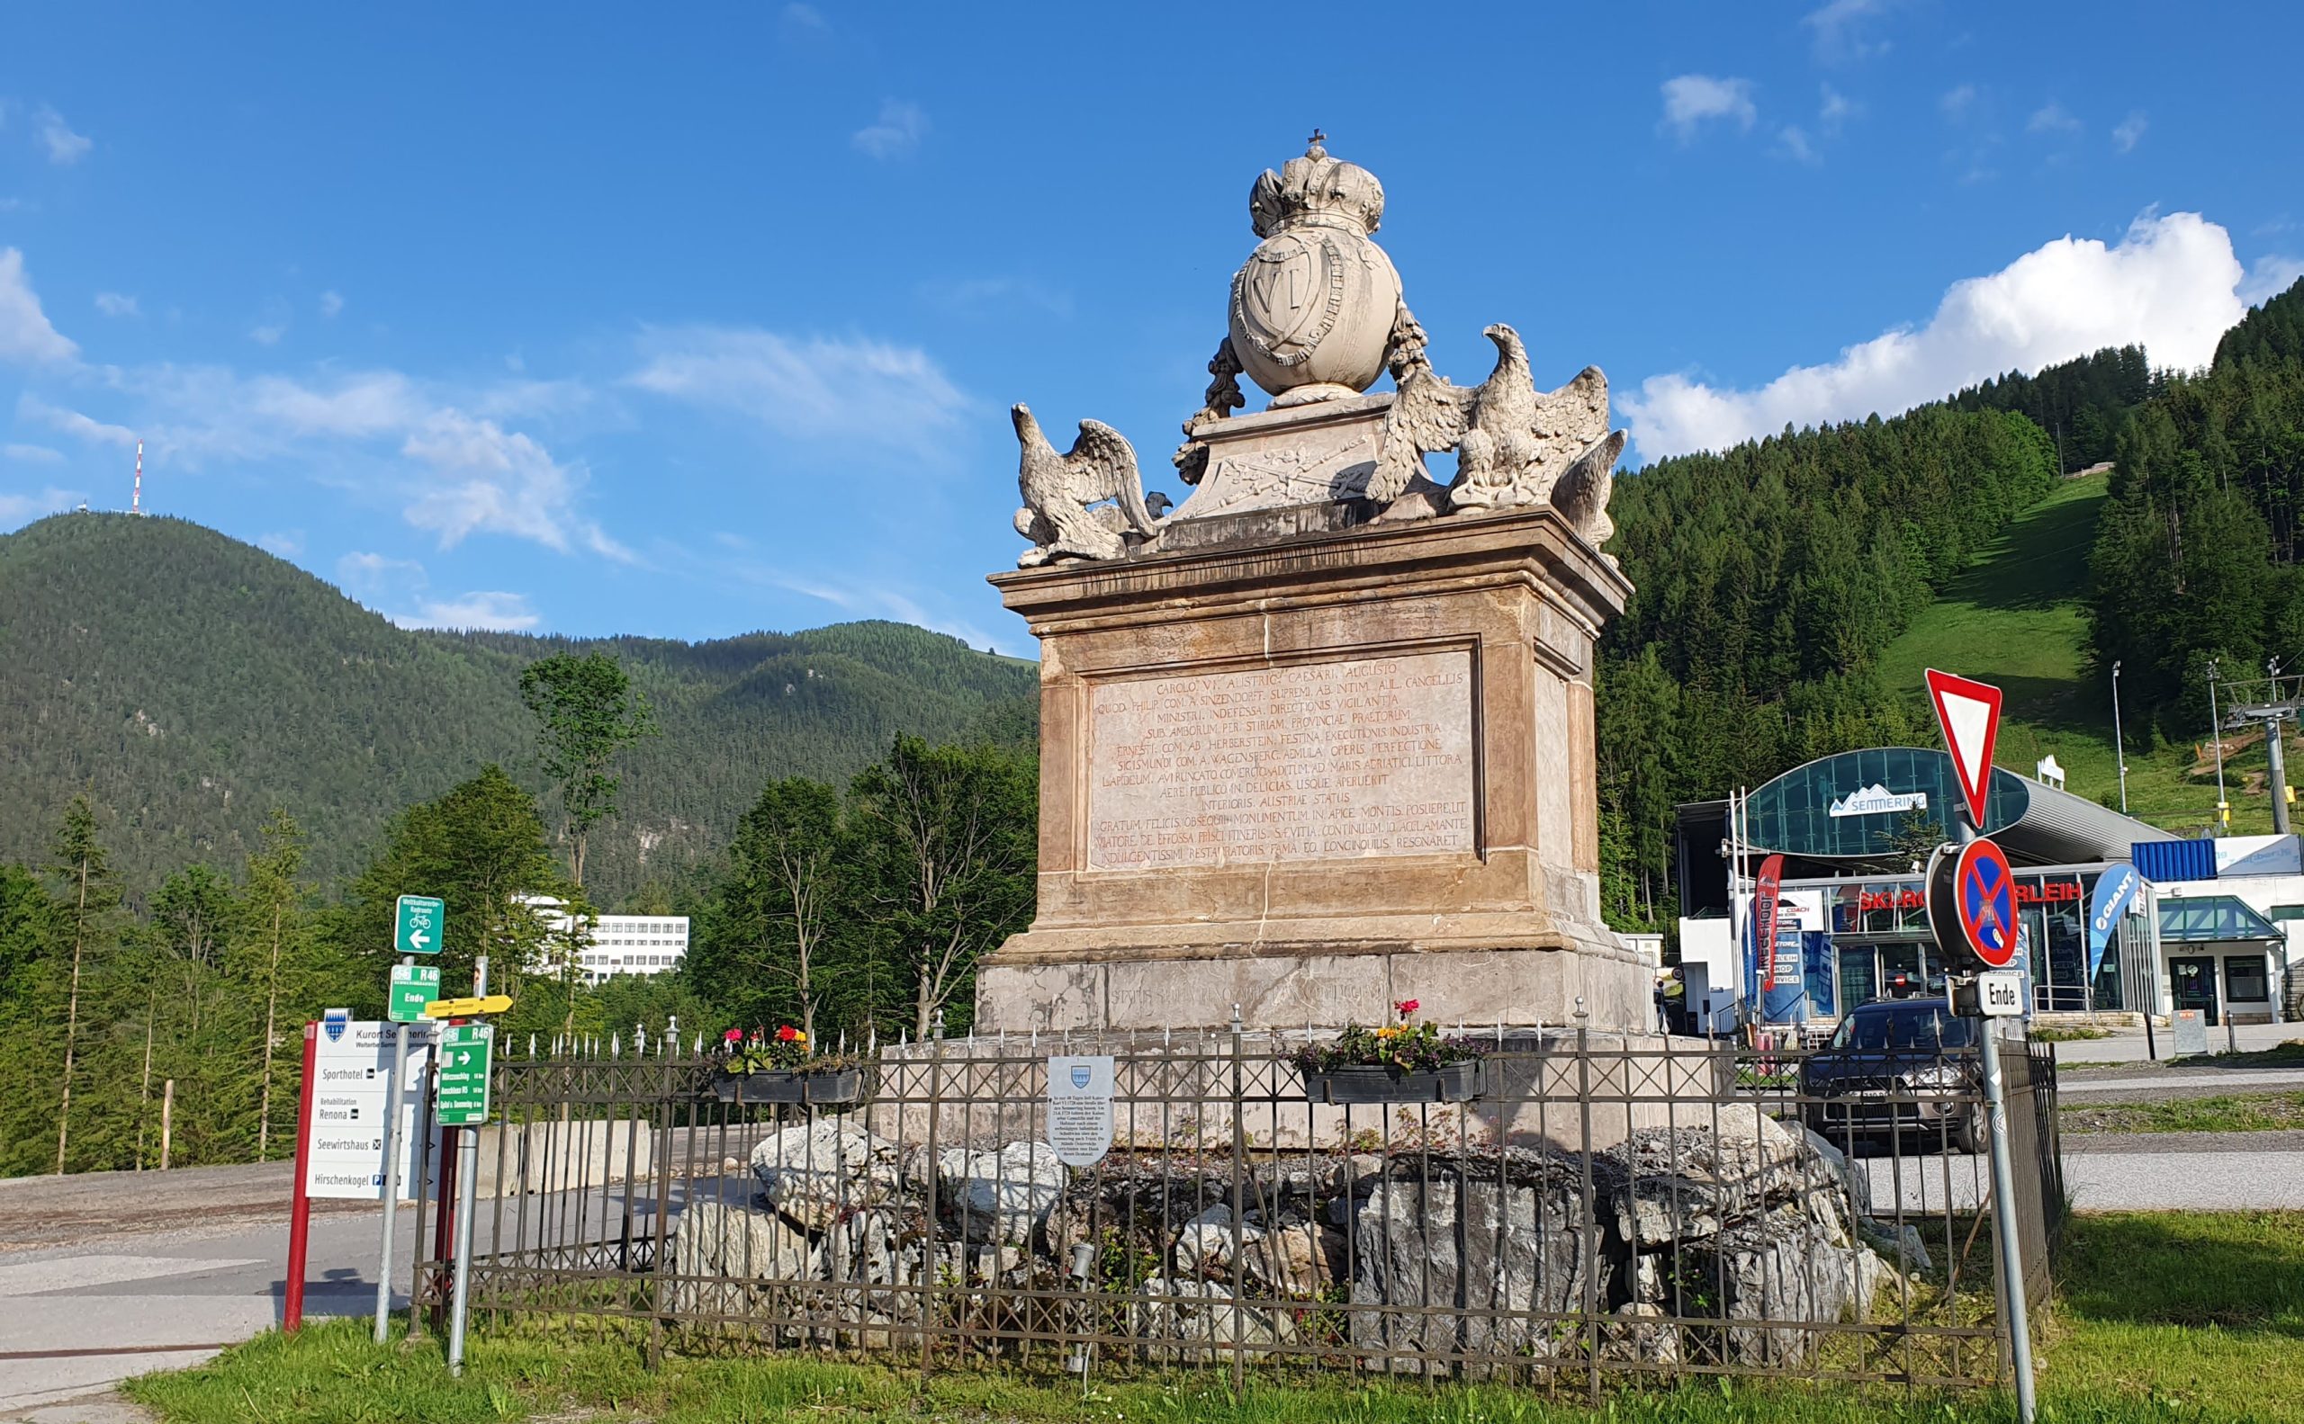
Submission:
M 1097 684 L 1087 866 L 1136 871 L 1472 843 L 1472 654 Z

